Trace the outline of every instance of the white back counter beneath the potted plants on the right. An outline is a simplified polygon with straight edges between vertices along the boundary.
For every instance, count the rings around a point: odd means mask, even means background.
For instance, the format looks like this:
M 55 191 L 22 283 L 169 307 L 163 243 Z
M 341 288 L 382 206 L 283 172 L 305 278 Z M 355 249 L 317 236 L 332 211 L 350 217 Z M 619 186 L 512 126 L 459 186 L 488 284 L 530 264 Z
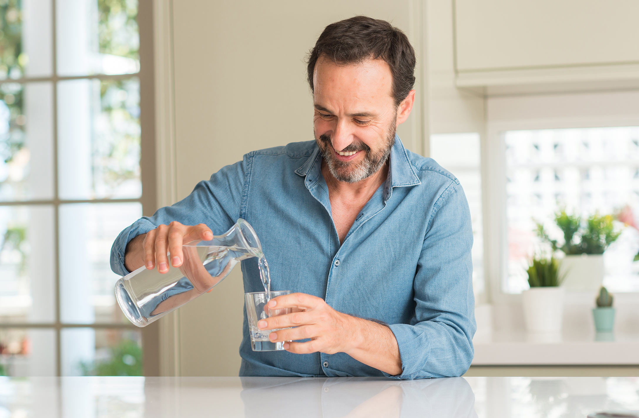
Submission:
M 477 334 L 473 366 L 637 365 L 639 334 L 526 332 Z

